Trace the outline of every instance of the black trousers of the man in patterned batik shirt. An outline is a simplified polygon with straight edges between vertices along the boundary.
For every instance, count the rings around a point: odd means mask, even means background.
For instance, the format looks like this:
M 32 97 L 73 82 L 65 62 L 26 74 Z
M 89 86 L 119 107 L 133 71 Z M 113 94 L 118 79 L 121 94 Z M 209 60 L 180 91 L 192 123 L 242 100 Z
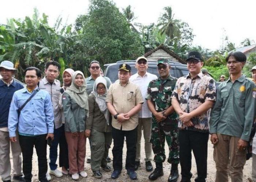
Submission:
M 181 165 L 181 181 L 189 182 L 191 174 L 191 151 L 196 159 L 197 177 L 196 182 L 205 182 L 207 177 L 207 143 L 209 133 L 180 130 L 180 165 Z

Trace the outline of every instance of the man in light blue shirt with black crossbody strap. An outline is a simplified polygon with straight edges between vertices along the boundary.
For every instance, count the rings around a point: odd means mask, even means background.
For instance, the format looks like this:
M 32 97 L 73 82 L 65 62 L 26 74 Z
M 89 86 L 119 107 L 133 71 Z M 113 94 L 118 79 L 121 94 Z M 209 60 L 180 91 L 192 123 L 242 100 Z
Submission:
M 32 156 L 33 147 L 38 156 L 38 178 L 41 182 L 47 182 L 47 159 L 46 146 L 47 139 L 53 140 L 54 116 L 50 95 L 47 91 L 37 90 L 37 83 L 41 79 L 41 72 L 38 68 L 29 67 L 25 71 L 26 88 L 18 90 L 12 98 L 8 130 L 10 141 L 16 142 L 16 129 L 18 127 L 19 143 L 23 156 L 23 173 L 25 181 L 31 182 L 32 178 Z M 18 114 L 18 109 L 26 102 L 27 99 L 37 92 L 34 97 Z

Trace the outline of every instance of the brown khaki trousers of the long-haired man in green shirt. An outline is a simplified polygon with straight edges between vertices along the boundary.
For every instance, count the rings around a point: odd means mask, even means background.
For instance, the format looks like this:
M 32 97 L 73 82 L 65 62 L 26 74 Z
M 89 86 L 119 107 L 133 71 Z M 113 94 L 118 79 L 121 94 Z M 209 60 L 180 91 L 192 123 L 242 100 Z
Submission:
M 217 133 L 219 142 L 214 147 L 213 158 L 216 163 L 216 182 L 228 182 L 228 165 L 231 182 L 242 182 L 246 162 L 246 150 L 238 150 L 240 137 Z

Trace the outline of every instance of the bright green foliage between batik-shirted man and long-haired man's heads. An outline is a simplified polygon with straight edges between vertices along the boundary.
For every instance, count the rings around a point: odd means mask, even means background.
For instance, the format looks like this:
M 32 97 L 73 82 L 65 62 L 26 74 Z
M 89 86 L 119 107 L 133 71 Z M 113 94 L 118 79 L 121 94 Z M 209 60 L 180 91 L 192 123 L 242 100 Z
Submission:
M 221 75 L 225 75 L 226 78 L 229 77 L 229 70 L 227 69 L 226 65 L 204 66 L 203 68 L 206 68 L 216 81 L 221 78 Z

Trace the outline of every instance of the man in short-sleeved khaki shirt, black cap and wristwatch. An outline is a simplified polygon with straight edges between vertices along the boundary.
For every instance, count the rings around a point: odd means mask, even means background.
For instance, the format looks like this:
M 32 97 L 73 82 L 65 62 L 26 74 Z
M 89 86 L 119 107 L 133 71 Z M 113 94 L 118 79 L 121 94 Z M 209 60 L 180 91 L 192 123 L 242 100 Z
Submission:
M 124 137 L 126 138 L 127 157 L 125 169 L 131 179 L 137 179 L 135 173 L 136 140 L 138 112 L 144 102 L 139 87 L 129 82 L 131 67 L 120 64 L 119 82 L 110 85 L 106 102 L 112 116 L 112 135 L 114 140 L 112 178 L 117 178 L 122 170 Z

